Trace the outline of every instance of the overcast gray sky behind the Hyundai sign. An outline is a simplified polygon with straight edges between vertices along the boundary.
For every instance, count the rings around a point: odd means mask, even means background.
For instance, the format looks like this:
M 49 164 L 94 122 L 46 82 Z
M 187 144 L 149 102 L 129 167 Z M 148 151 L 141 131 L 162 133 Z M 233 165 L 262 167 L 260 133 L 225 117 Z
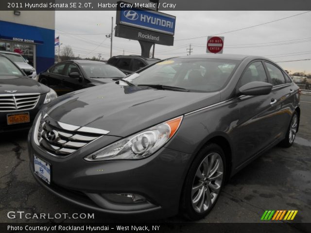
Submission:
M 206 53 L 207 37 L 225 36 L 224 53 L 266 56 L 273 61 L 293 61 L 311 58 L 311 12 L 303 11 L 167 11 L 176 16 L 174 46 L 155 45 L 155 57 L 164 59 L 187 55 L 191 44 L 192 54 Z M 55 36 L 64 45 L 70 45 L 81 58 L 110 56 L 111 17 L 115 11 L 56 11 Z M 284 17 L 287 19 L 265 25 L 225 33 Z M 114 33 L 113 33 L 114 34 Z M 100 45 L 100 46 L 99 46 Z M 61 47 L 62 47 L 61 46 Z M 97 48 L 98 47 L 98 48 Z M 113 37 L 112 55 L 139 54 L 138 41 Z M 287 70 L 311 73 L 311 60 L 278 63 Z

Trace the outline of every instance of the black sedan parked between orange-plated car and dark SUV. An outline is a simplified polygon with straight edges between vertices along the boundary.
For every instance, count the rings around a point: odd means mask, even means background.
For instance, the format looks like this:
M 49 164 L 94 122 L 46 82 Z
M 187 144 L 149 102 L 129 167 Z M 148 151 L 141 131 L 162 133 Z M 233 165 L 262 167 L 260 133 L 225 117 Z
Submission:
M 51 87 L 60 96 L 125 76 L 120 69 L 104 62 L 72 60 L 57 63 L 40 73 L 38 82 Z

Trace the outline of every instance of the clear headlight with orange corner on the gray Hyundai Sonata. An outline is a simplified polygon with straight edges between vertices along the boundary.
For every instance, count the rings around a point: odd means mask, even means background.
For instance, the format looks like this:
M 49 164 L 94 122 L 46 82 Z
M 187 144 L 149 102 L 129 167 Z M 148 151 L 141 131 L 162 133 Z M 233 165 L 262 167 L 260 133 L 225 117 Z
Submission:
M 86 156 L 87 161 L 116 159 L 143 159 L 160 149 L 179 128 L 183 116 L 158 124 L 132 136 L 123 138 L 93 154 Z

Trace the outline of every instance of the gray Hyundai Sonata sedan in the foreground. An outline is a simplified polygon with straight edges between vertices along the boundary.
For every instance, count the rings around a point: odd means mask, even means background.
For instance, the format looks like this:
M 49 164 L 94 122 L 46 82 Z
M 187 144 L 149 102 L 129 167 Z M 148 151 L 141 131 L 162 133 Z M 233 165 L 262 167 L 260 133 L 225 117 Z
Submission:
M 83 207 L 198 219 L 226 179 L 293 144 L 299 115 L 298 86 L 268 59 L 178 57 L 53 100 L 30 131 L 30 167 Z

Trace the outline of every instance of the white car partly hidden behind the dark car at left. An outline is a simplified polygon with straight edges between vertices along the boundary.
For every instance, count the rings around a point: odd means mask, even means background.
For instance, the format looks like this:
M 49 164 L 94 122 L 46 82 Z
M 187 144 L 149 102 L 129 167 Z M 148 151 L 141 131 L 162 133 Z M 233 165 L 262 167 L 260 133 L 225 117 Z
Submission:
M 28 61 L 23 58 L 17 52 L 9 52 L 9 51 L 0 51 L 0 54 L 6 56 L 11 59 L 25 74 L 32 79 L 36 79 L 37 73 L 35 68 L 28 64 Z

